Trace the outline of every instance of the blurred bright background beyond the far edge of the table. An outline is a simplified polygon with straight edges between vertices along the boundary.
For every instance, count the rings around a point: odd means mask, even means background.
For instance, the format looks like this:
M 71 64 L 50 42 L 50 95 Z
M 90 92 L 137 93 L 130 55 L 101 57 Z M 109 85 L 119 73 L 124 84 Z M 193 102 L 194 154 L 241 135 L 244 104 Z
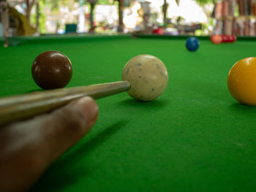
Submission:
M 10 37 L 91 33 L 256 36 L 256 0 L 0 0 L 0 3 L 0 36 L 6 22 Z M 8 19 L 4 12 L 8 12 Z

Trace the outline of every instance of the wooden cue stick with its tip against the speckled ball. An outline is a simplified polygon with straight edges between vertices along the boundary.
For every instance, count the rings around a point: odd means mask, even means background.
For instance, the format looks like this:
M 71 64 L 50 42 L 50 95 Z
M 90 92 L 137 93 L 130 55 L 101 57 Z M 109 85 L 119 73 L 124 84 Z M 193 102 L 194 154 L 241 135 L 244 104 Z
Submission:
M 23 120 L 44 112 L 50 112 L 83 96 L 99 99 L 128 91 L 129 88 L 131 85 L 128 81 L 118 81 L 4 97 L 0 99 L 0 126 L 15 120 Z

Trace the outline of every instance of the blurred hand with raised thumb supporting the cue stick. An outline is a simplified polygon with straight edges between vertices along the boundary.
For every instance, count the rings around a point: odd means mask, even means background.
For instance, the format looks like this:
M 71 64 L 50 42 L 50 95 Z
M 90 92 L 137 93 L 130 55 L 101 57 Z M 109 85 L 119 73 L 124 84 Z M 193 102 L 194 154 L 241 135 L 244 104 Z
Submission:
M 47 115 L 0 130 L 0 191 L 24 191 L 97 120 L 96 102 L 85 97 Z

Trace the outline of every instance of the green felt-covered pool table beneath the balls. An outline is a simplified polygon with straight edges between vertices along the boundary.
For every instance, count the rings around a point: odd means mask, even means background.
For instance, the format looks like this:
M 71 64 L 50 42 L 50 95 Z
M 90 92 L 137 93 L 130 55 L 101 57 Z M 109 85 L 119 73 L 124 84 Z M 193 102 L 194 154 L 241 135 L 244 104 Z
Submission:
M 256 41 L 214 45 L 199 37 L 199 49 L 189 52 L 186 38 L 17 37 L 0 47 L 0 96 L 40 90 L 31 64 L 45 50 L 72 61 L 67 87 L 119 81 L 140 54 L 157 56 L 169 74 L 154 101 L 127 93 L 97 100 L 97 124 L 30 191 L 255 191 L 256 107 L 233 99 L 227 74 L 236 61 L 256 56 Z

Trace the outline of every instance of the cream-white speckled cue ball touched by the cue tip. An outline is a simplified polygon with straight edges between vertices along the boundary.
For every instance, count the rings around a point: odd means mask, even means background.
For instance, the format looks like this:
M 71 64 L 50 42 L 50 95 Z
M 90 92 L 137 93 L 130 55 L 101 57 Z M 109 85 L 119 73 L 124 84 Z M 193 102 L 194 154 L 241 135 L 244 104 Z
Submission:
M 127 93 L 140 101 L 157 99 L 166 89 L 168 73 L 165 64 L 153 55 L 137 55 L 124 66 L 122 80 L 129 81 Z

